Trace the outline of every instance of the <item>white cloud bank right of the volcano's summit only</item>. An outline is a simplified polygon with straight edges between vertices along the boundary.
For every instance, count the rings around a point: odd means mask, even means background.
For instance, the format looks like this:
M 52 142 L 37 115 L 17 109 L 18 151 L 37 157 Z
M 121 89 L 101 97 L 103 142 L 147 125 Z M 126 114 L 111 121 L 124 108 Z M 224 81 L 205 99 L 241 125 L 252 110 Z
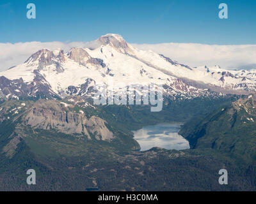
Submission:
M 191 67 L 220 65 L 227 69 L 256 69 L 256 45 L 162 43 L 133 46 L 141 50 L 152 50 Z

